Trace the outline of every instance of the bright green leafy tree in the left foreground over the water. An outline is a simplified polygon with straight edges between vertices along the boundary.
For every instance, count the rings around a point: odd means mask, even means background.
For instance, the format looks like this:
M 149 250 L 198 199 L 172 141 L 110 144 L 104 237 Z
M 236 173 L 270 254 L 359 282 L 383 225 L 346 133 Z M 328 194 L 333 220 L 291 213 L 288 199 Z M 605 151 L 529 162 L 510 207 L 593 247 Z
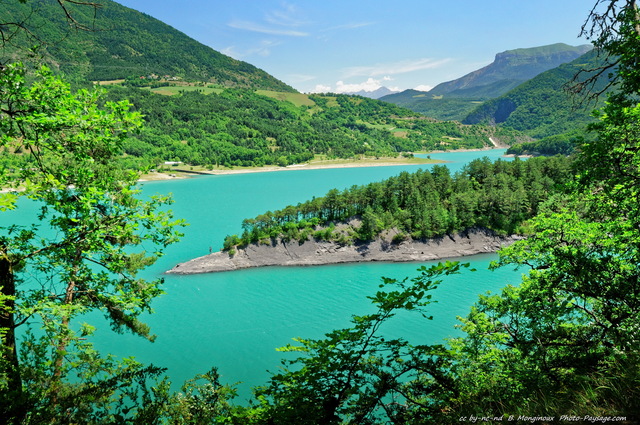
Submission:
M 0 194 L 1 416 L 133 417 L 143 413 L 140 397 L 153 394 L 145 381 L 162 370 L 102 356 L 91 343 L 95 326 L 82 322 L 101 312 L 114 331 L 153 340 L 139 318 L 162 280 L 137 274 L 184 223 L 164 208 L 170 199 L 140 199 L 137 174 L 117 165 L 123 139 L 140 123 L 126 102 L 99 107 L 99 92 L 71 93 L 44 68 L 32 78 L 27 84 L 18 64 L 0 71 L 0 146 L 25 164 L 0 174 L 9 189 Z M 12 224 L 29 205 L 32 224 Z

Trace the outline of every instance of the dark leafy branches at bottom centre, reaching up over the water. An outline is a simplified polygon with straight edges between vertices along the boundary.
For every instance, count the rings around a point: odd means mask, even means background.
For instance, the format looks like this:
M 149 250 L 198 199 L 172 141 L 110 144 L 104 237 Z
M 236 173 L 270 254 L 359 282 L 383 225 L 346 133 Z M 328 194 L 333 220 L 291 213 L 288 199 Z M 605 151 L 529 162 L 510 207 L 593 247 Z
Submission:
M 388 338 L 384 324 L 401 311 L 431 320 L 427 307 L 440 278 L 459 273 L 459 262 L 422 266 L 413 279 L 383 278 L 374 296 L 375 313 L 354 316 L 350 328 L 334 330 L 318 340 L 296 339 L 285 352 L 302 353 L 283 361 L 284 372 L 258 389 L 261 411 L 255 423 L 368 424 L 407 423 L 414 409 L 430 410 L 412 386 L 431 376 L 428 391 L 449 391 L 453 383 L 440 369 L 439 346 L 413 346 Z

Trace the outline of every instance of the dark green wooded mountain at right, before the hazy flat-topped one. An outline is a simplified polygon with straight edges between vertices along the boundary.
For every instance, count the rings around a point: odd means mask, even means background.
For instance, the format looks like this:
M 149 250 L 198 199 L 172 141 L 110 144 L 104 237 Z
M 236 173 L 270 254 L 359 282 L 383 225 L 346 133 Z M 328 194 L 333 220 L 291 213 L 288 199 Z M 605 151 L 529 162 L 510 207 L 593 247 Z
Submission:
M 543 72 L 508 93 L 484 102 L 470 113 L 465 124 L 491 124 L 525 132 L 542 138 L 583 128 L 592 122 L 593 103 L 581 105 L 580 98 L 565 90 L 582 69 L 598 69 L 602 58 L 590 51 L 579 58 Z M 588 74 L 584 74 L 583 78 Z M 601 78 L 595 91 L 605 88 L 609 80 Z M 602 100 L 601 100 L 602 102 Z

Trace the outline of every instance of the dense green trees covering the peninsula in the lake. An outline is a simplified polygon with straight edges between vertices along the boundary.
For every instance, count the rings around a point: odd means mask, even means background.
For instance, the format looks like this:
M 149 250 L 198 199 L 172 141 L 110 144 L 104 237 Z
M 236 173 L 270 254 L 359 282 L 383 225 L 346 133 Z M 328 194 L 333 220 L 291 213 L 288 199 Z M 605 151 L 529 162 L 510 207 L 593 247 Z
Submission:
M 512 162 L 485 158 L 454 175 L 446 166 L 403 172 L 246 219 L 244 233 L 228 236 L 224 247 L 232 250 L 271 239 L 302 242 L 310 238 L 353 244 L 390 230 L 395 243 L 473 227 L 513 234 L 522 231 L 523 222 L 537 214 L 539 204 L 571 176 L 570 160 L 560 156 Z M 347 223 L 353 224 L 345 230 Z

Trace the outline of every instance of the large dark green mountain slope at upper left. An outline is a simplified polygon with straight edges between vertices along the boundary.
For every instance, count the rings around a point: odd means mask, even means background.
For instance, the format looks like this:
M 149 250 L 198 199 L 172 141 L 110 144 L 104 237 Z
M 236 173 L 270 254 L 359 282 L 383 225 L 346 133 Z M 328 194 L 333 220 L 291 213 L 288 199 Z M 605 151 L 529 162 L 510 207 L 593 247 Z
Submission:
M 223 55 L 149 15 L 111 0 L 100 4 L 94 9 L 66 3 L 74 18 L 90 29 L 83 31 L 69 29 L 56 0 L 3 2 L 2 21 L 25 22 L 28 31 L 3 43 L 0 63 L 25 60 L 25 52 L 39 44 L 35 61 L 44 60 L 74 81 L 157 75 L 225 87 L 295 91 L 263 70 Z

